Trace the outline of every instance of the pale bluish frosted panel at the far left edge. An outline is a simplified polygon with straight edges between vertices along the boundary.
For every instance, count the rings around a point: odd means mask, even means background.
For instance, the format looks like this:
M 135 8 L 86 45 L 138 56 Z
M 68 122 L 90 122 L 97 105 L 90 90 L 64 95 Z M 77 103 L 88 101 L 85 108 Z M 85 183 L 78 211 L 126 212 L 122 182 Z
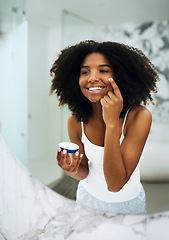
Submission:
M 27 22 L 0 35 L 1 134 L 27 166 Z

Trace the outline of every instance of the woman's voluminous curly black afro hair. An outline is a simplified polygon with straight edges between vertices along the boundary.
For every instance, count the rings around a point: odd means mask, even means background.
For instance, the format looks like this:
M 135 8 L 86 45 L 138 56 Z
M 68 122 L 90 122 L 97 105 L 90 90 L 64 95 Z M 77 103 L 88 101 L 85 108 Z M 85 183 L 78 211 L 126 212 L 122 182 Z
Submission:
M 151 91 L 157 92 L 159 77 L 142 51 L 117 42 L 87 40 L 63 49 L 50 70 L 53 77 L 50 94 L 57 95 L 59 106 L 67 104 L 78 121 L 88 122 L 92 107 L 80 90 L 79 77 L 84 58 L 93 52 L 103 54 L 112 67 L 123 97 L 120 118 L 130 107 L 146 105 L 148 100 L 154 104 Z

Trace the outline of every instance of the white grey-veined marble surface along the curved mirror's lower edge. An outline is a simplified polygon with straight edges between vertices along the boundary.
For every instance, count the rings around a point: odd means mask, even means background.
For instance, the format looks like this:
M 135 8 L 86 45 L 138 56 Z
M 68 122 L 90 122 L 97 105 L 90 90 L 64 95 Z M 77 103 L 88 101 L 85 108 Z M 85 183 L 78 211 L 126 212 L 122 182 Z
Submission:
M 169 211 L 108 214 L 84 208 L 33 177 L 0 136 L 0 240 L 168 240 Z

